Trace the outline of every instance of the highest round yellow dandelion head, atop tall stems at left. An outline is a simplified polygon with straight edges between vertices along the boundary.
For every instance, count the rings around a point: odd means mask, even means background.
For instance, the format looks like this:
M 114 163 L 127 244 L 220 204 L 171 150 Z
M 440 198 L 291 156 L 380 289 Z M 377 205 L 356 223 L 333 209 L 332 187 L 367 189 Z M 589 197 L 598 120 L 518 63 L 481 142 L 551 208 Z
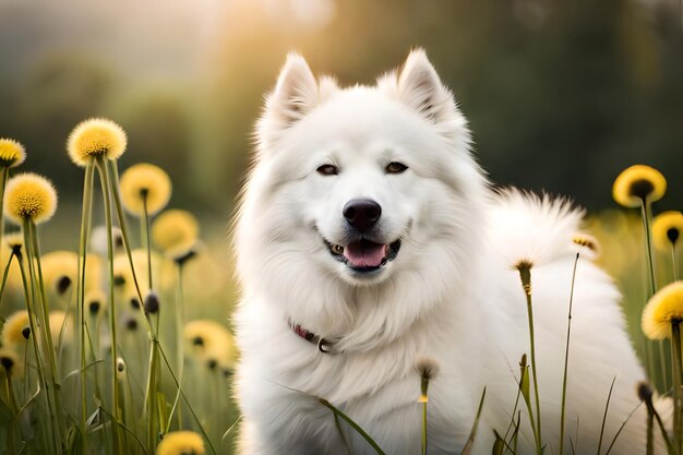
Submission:
M 118 159 L 125 152 L 128 139 L 121 127 L 107 119 L 88 119 L 73 129 L 67 140 L 69 157 L 77 166 L 87 166 L 95 158 Z

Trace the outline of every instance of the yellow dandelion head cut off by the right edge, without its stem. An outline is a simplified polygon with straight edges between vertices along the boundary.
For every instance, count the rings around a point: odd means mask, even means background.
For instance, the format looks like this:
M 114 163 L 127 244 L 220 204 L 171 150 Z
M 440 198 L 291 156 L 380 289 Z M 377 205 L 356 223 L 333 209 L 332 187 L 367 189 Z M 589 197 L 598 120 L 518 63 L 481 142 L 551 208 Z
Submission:
M 650 339 L 671 337 L 671 323 L 683 322 L 683 282 L 661 288 L 645 306 L 640 327 Z

